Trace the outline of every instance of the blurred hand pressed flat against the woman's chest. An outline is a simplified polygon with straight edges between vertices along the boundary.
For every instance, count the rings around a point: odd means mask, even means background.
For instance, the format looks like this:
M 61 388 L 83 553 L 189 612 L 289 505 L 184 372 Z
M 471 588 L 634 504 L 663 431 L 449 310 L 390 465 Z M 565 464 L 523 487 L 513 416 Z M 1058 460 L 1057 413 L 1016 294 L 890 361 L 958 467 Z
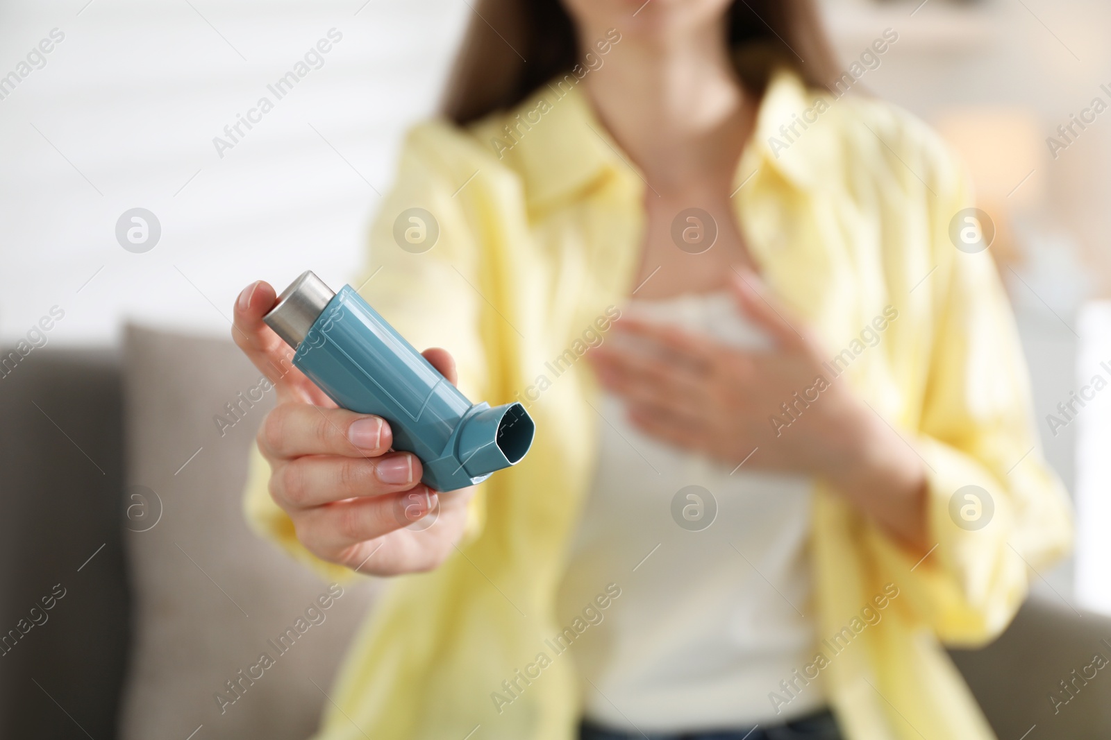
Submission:
M 898 538 L 922 547 L 921 458 L 823 366 L 808 327 L 758 286 L 751 273 L 731 282 L 772 349 L 738 349 L 627 315 L 614 330 L 637 342 L 611 339 L 588 354 L 602 385 L 623 397 L 645 433 L 738 467 L 822 476 Z

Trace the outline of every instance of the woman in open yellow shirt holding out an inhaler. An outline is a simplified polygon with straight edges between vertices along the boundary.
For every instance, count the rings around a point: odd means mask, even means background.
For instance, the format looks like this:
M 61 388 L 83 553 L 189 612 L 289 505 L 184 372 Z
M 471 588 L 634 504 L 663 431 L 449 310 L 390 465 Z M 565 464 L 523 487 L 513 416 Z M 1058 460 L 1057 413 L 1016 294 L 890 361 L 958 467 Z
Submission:
M 280 399 L 251 520 L 330 577 L 421 574 L 319 737 L 993 737 L 941 646 L 1004 629 L 1070 524 L 952 156 L 830 94 L 801 0 L 476 10 L 361 290 L 524 403 L 529 456 L 428 490 L 282 364 L 270 285 L 236 308 Z

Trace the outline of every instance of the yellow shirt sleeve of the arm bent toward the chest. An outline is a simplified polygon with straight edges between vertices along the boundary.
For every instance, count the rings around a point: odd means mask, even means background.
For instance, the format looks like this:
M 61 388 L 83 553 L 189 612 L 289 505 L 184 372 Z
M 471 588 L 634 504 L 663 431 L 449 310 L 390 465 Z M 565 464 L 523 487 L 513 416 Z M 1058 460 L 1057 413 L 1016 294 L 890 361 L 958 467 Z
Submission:
M 990 250 L 957 250 L 949 223 L 972 205 L 961 166 L 937 169 L 931 211 L 938 265 L 930 278 L 932 352 L 911 443 L 928 475 L 921 562 L 872 533 L 900 577 L 905 602 L 953 646 L 994 639 L 1022 605 L 1031 577 L 1072 539 L 1068 494 L 1048 467 L 1034 427 L 1030 382 L 1014 317 Z

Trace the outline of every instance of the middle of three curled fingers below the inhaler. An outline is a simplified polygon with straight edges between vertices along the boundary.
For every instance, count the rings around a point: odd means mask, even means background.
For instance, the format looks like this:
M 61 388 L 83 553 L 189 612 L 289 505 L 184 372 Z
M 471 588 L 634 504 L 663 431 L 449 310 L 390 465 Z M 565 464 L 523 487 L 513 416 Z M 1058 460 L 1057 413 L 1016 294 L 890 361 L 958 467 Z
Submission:
M 270 495 L 287 511 L 350 498 L 398 494 L 420 483 L 423 470 L 412 453 L 381 457 L 307 455 L 277 465 Z

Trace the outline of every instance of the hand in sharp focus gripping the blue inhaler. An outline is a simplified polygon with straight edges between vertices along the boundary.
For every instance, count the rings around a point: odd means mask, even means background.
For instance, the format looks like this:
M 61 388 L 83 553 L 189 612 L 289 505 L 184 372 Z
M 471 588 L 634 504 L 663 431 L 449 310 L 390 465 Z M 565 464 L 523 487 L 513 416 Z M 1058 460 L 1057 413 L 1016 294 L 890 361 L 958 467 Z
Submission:
M 249 285 L 236 302 L 232 328 L 236 344 L 278 393 L 258 436 L 270 463 L 270 495 L 298 539 L 323 560 L 379 576 L 440 565 L 462 536 L 474 488 L 438 494 L 422 485 L 420 460 L 390 452 L 389 423 L 338 408 L 293 367 L 293 351 L 262 322 L 276 301 L 269 284 Z M 456 383 L 451 355 L 423 354 Z M 414 521 L 429 526 L 406 528 Z

